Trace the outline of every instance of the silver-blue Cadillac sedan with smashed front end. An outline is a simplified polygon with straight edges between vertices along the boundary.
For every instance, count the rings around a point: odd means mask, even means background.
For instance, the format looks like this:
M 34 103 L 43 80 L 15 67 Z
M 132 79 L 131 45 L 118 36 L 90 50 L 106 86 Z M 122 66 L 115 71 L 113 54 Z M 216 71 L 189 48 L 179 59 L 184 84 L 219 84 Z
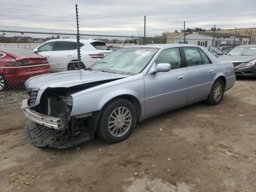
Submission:
M 231 62 L 200 46 L 146 45 L 115 50 L 86 70 L 25 83 L 25 134 L 35 146 L 65 148 L 93 139 L 116 143 L 136 122 L 205 101 L 219 104 L 235 82 Z

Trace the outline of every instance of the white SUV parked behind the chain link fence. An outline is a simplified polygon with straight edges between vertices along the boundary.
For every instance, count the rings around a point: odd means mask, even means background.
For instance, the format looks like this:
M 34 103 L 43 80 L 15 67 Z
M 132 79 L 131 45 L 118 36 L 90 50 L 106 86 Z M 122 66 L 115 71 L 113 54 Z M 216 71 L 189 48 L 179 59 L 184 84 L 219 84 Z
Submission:
M 75 62 L 78 61 L 76 39 L 48 40 L 33 52 L 46 57 L 48 63 L 57 63 L 51 65 L 53 72 L 78 69 L 78 62 Z M 80 39 L 81 68 L 91 66 L 110 52 L 103 41 Z

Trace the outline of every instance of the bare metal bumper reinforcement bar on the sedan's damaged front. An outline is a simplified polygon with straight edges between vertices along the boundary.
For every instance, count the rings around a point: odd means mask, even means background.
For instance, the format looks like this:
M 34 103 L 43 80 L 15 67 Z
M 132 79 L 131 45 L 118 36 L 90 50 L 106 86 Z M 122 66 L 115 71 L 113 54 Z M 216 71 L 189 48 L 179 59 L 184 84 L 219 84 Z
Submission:
M 62 119 L 38 113 L 28 108 L 28 99 L 22 101 L 22 109 L 25 116 L 33 122 L 53 129 L 63 128 Z

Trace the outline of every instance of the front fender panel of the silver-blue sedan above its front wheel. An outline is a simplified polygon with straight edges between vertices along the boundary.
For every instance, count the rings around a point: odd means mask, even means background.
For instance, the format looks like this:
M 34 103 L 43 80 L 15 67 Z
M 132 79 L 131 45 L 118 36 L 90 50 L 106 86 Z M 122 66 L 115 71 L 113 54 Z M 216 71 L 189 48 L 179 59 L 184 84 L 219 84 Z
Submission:
M 125 83 L 123 81 L 123 79 L 120 79 L 71 94 L 73 97 L 73 107 L 70 115 L 74 116 L 101 110 L 107 102 L 125 94 L 138 99 L 142 108 L 141 114 L 144 116 L 145 88 L 142 74 L 138 74 L 138 78 L 131 81 Z

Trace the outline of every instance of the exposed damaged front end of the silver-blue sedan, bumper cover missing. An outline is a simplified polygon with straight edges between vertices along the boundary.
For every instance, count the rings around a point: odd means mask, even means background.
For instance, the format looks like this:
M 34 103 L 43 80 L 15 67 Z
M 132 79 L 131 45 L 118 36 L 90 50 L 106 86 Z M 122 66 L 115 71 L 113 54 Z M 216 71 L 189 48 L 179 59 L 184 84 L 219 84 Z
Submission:
M 30 119 L 26 122 L 25 134 L 31 144 L 66 148 L 94 137 L 100 111 L 70 116 L 73 105 L 70 94 L 76 90 L 48 88 L 40 98 L 37 98 L 38 90 L 28 92 L 30 98 L 23 100 L 22 109 Z M 37 100 L 39 104 L 35 104 Z

